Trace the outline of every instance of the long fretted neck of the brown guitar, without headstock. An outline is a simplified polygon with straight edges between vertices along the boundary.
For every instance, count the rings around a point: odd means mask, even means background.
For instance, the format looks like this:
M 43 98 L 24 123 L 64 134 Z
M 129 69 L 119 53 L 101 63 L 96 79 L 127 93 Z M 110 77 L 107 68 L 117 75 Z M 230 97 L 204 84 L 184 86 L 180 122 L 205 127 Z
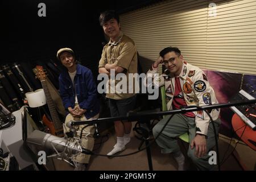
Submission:
M 47 102 L 48 107 L 49 107 L 49 111 L 50 111 L 50 114 L 51 114 L 51 117 L 52 117 L 53 125 L 54 125 L 56 130 L 61 130 L 61 129 L 63 129 L 63 126 L 61 124 L 61 121 L 60 121 L 59 115 L 57 113 L 55 104 L 54 104 L 54 102 L 52 100 L 52 97 L 51 97 L 51 94 L 49 92 L 47 83 L 46 83 L 45 80 L 43 80 L 41 82 L 42 82 L 42 86 L 43 86 L 43 89 L 44 89 L 44 94 L 46 95 L 46 102 Z

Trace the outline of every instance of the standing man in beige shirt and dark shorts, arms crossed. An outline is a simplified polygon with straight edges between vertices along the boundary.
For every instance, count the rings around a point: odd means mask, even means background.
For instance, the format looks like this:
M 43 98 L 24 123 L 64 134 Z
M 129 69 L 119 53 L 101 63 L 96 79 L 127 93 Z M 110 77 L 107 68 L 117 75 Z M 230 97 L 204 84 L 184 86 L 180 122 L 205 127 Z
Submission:
M 129 73 L 137 73 L 137 49 L 133 40 L 124 35 L 120 30 L 119 17 L 114 11 L 105 11 L 100 15 L 100 24 L 110 41 L 103 48 L 101 59 L 98 65 L 98 72 L 109 76 L 109 88 L 106 97 L 109 98 L 109 107 L 112 117 L 126 115 L 130 110 L 134 110 L 136 104 L 136 94 L 129 93 L 128 81 Z M 110 75 L 114 73 L 114 75 Z M 115 89 L 119 80 L 114 76 L 124 73 L 127 77 L 127 88 L 122 88 L 122 92 Z M 112 151 L 107 155 L 114 155 L 125 150 L 125 145 L 130 142 L 131 122 L 115 121 L 115 133 L 117 143 Z

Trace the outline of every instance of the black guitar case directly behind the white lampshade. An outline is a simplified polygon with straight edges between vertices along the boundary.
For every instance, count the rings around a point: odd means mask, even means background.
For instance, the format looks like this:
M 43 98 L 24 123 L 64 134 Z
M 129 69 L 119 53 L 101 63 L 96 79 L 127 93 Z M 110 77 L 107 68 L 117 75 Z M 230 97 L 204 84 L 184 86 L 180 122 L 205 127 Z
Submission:
M 35 74 L 32 71 L 32 66 L 30 63 L 22 62 L 20 63 L 20 68 L 23 70 L 23 73 L 26 74 L 28 82 L 34 90 L 42 89 L 41 83 L 35 78 Z

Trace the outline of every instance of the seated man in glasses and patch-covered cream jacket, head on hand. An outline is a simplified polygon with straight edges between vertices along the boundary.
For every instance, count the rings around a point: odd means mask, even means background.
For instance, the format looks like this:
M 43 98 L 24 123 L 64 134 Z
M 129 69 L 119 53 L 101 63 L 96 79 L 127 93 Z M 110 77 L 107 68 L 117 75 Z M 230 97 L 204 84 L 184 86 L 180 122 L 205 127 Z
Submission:
M 198 67 L 183 60 L 179 48 L 166 47 L 159 53 L 158 60 L 147 73 L 156 73 L 158 65 L 163 63 L 167 68 L 158 79 L 159 86 L 165 86 L 168 110 L 187 106 L 204 106 L 218 104 L 214 90 L 209 85 L 205 73 Z M 218 109 L 208 110 L 218 133 L 220 119 Z M 158 122 L 154 129 L 154 137 L 158 136 L 170 117 Z M 199 170 L 212 170 L 216 165 L 209 164 L 208 152 L 214 147 L 214 130 L 210 118 L 205 111 L 194 111 L 175 114 L 163 132 L 156 139 L 163 154 L 172 153 L 178 164 L 178 170 L 184 170 L 185 158 L 177 144 L 177 138 L 189 133 L 188 156 Z

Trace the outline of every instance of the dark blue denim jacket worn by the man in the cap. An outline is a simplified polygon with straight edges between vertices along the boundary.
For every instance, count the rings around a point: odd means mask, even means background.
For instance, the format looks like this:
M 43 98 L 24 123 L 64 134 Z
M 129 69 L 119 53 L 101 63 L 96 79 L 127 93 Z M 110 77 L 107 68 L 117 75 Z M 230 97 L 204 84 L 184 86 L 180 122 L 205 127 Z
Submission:
M 63 105 L 67 110 L 68 107 L 75 107 L 75 89 L 68 74 L 68 71 L 61 73 L 59 76 L 60 96 Z M 76 96 L 79 106 L 87 111 L 84 113 L 87 119 L 100 112 L 100 102 L 97 98 L 97 87 L 93 80 L 90 69 L 77 64 L 76 76 L 74 78 Z

